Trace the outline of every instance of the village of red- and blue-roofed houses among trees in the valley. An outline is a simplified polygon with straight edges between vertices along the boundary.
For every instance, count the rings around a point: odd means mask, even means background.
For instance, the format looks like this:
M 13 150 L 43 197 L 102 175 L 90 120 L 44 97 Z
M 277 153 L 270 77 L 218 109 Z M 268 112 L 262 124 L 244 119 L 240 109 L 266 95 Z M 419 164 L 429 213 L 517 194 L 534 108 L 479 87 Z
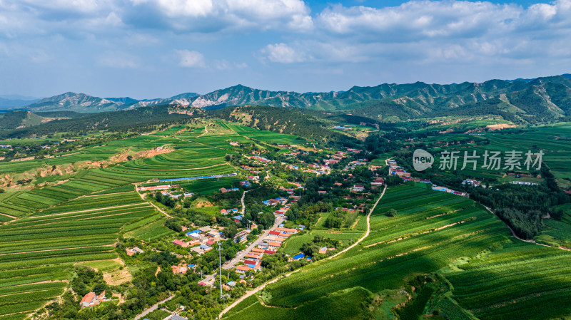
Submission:
M 126 239 L 123 247 L 123 254 L 128 257 L 126 261 L 143 262 L 149 255 L 170 254 L 173 263 L 168 265 L 168 269 L 173 276 L 196 274 L 198 277 L 194 281 L 198 287 L 221 289 L 223 297 L 229 299 L 241 294 L 245 288 L 255 287 L 277 265 L 281 268 L 303 266 L 348 246 L 348 243 L 325 238 L 315 240 L 315 244 L 310 242 L 315 247 L 313 251 L 300 244 L 296 244 L 298 249 L 292 249 L 290 239 L 307 237 L 322 215 L 318 211 L 315 218 L 312 215 L 308 216 L 310 219 L 300 217 L 300 209 L 308 205 L 336 204 L 325 209 L 325 213 L 333 212 L 330 215 L 338 218 L 324 224 L 335 228 L 343 226 L 344 217 L 368 213 L 370 203 L 387 183 L 387 177 L 468 197 L 465 192 L 411 177 L 410 172 L 396 160 L 389 159 L 385 165 L 371 165 L 360 157 L 360 150 L 347 148 L 325 153 L 292 149 L 279 157 L 253 152 L 236 160 L 239 171 L 235 174 L 225 177 L 206 175 L 195 179 L 210 183 L 208 181 L 238 178 L 236 182 L 214 190 L 211 195 L 188 189 L 186 178 L 149 181 L 149 185 L 138 186 L 141 197 L 172 216 L 166 226 L 176 232 L 151 241 Z M 327 182 L 315 183 L 317 180 Z M 482 185 L 470 179 L 463 183 Z M 191 216 L 181 217 L 180 212 L 186 207 L 198 216 L 193 219 Z M 218 209 L 214 212 L 210 207 Z M 206 210 L 211 213 L 201 213 Z M 196 217 L 206 219 L 206 216 L 211 222 L 196 220 Z M 156 272 L 165 272 L 165 269 L 159 266 Z M 104 301 L 108 301 L 104 292 L 90 292 L 81 300 L 81 306 L 94 308 Z M 161 311 L 170 314 L 165 319 L 188 319 L 185 316 L 190 313 L 172 302 L 160 305 Z

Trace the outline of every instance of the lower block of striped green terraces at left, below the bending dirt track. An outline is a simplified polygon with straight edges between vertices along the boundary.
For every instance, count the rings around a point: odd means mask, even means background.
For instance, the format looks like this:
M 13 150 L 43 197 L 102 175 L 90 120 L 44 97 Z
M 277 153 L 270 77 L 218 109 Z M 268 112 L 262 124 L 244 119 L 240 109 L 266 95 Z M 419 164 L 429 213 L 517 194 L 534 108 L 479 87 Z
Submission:
M 24 319 L 63 293 L 72 264 L 116 259 L 121 227 L 153 212 L 131 191 L 79 197 L 0 226 L 0 319 Z

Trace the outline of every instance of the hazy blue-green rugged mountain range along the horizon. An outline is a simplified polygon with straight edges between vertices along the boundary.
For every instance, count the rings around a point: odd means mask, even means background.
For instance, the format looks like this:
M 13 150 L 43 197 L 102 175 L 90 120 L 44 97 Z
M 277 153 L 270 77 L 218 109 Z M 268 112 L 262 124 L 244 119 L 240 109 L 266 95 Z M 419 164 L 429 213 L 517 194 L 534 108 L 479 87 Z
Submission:
M 22 109 L 31 112 L 66 110 L 94 113 L 151 105 L 192 105 L 204 109 L 268 105 L 351 113 L 381 121 L 439 115 L 495 114 L 515 122 L 538 123 L 570 117 L 571 74 L 448 85 L 383 83 L 327 93 L 266 91 L 238 85 L 205 95 L 183 93 L 171 98 L 151 100 L 98 98 L 69 92 L 41 99 Z

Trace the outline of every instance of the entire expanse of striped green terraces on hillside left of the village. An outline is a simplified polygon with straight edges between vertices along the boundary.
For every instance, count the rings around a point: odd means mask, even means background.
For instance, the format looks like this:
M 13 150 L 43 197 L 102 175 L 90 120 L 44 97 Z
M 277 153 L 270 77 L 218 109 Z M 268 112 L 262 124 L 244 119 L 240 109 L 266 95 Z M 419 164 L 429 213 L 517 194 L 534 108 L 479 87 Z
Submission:
M 177 126 L 56 158 L 1 162 L 0 172 L 15 175 L 51 165 L 108 160 L 126 151 L 173 149 L 152 158 L 39 177 L 36 183 L 52 184 L 0 194 L 0 222 L 7 222 L 0 225 L 0 319 L 24 319 L 62 294 L 71 265 L 116 259 L 113 249 L 121 230 L 144 240 L 173 234 L 164 227 L 163 216 L 134 191 L 133 182 L 236 172 L 225 159 L 235 153 L 228 142 L 236 137 L 240 135 L 225 137 L 204 128 Z M 238 177 L 197 181 L 188 189 L 208 193 L 236 181 Z

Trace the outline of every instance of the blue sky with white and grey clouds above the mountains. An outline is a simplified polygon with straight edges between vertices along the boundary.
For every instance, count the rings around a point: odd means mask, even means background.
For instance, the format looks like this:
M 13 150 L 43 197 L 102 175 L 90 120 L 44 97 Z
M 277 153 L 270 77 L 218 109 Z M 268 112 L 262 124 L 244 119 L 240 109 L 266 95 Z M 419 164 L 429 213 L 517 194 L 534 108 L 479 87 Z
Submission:
M 480 82 L 570 52 L 571 0 L 0 0 L 0 95 Z

